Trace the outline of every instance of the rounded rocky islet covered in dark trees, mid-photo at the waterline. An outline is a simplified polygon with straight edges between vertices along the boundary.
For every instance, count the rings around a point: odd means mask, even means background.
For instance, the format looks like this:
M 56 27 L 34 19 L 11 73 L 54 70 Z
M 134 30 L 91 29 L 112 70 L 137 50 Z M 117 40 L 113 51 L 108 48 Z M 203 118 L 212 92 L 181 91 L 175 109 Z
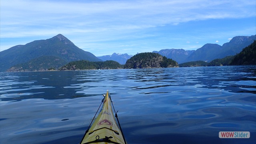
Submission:
M 132 56 L 126 61 L 124 68 L 171 68 L 178 63 L 157 53 L 144 52 Z

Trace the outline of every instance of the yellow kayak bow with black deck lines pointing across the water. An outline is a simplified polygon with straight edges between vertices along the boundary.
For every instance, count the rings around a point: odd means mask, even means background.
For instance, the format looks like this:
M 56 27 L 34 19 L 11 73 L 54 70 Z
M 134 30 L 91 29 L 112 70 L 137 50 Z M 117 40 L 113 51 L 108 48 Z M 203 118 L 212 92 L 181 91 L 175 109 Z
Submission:
M 118 121 L 119 127 L 114 118 L 114 113 L 112 110 L 112 106 L 114 108 L 114 105 L 108 90 L 106 95 L 103 96 L 105 97 L 102 100 L 103 106 L 100 110 L 100 113 L 98 114 L 98 117 L 94 123 L 92 124 L 91 122 L 92 126 L 89 126 L 90 129 L 88 128 L 88 130 L 86 130 L 80 144 L 127 144 L 124 135 L 122 134 L 122 129 L 118 120 L 118 111 L 116 112 L 115 109 L 115 117 Z

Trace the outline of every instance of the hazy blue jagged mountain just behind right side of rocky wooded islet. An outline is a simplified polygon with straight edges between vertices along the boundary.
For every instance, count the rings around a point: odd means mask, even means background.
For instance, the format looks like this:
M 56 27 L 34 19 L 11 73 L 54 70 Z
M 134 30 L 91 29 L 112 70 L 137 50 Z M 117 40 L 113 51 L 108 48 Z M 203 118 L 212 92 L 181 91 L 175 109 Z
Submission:
M 183 50 L 183 49 L 165 49 L 158 51 L 153 51 L 154 53 L 161 54 L 167 58 L 172 58 L 177 61 L 179 64 L 185 62 L 186 58 L 190 56 L 195 50 Z

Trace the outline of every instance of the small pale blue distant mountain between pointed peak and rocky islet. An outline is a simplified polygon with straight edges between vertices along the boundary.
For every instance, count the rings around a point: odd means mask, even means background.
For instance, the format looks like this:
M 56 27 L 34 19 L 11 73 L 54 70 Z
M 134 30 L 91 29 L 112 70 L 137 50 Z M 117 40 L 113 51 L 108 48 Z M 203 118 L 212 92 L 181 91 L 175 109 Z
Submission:
M 113 53 L 112 55 L 106 55 L 106 56 L 98 56 L 97 58 L 106 61 L 106 60 L 114 60 L 116 62 L 118 62 L 119 64 L 125 64 L 126 60 L 128 60 L 129 58 L 131 58 L 131 55 L 128 54 L 116 54 Z

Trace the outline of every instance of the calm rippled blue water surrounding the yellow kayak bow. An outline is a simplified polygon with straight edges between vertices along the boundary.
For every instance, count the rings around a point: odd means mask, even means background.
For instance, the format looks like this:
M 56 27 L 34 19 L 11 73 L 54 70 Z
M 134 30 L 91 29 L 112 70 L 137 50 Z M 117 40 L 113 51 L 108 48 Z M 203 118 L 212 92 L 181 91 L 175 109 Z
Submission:
M 77 144 L 106 90 L 128 144 L 256 142 L 256 66 L 223 66 L 0 73 L 0 143 Z

